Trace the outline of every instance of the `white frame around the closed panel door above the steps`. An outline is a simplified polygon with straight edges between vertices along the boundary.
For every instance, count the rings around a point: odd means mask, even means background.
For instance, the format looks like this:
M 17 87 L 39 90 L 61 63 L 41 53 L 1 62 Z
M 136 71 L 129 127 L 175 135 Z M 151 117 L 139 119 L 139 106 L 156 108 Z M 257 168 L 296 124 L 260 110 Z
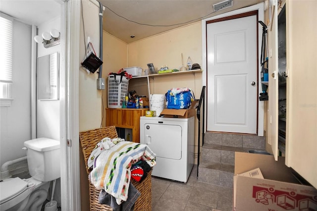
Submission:
M 250 11 L 254 11 L 254 10 L 258 10 L 258 19 L 259 21 L 263 21 L 264 22 L 264 3 L 258 3 L 249 7 L 245 7 L 245 8 L 241 8 L 241 9 L 237 9 L 234 11 L 230 11 L 230 12 L 226 12 L 223 14 L 219 14 L 216 16 L 213 16 L 211 18 L 207 18 L 202 20 L 202 68 L 203 70 L 203 78 L 202 78 L 202 84 L 203 86 L 207 86 L 207 22 L 210 20 L 214 20 L 214 19 L 219 19 L 219 18 L 224 18 L 224 17 L 228 17 L 228 16 L 232 16 L 232 15 L 238 15 L 241 13 L 246 13 L 246 12 L 250 12 Z M 262 28 L 258 27 L 258 40 L 261 41 L 262 40 Z M 261 42 L 258 42 L 258 49 L 261 49 Z M 261 57 L 261 51 L 258 51 L 258 57 Z M 261 64 L 260 62 L 258 62 L 258 81 L 261 81 Z M 262 93 L 262 86 L 258 86 L 258 94 Z M 207 92 L 207 90 L 206 90 Z M 205 93 L 205 96 L 207 96 L 207 94 Z M 205 101 L 205 107 L 207 108 L 207 101 Z M 205 125 L 207 125 L 207 112 L 205 113 Z M 205 126 L 204 128 L 204 132 L 206 132 L 207 127 Z M 263 101 L 259 101 L 258 102 L 258 136 L 264 136 L 264 102 Z

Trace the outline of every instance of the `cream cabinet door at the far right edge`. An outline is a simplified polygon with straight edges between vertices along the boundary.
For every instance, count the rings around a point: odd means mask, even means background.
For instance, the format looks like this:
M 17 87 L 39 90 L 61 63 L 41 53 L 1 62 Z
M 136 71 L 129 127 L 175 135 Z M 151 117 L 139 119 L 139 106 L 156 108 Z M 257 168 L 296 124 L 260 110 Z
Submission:
M 317 1 L 286 1 L 286 165 L 317 188 Z

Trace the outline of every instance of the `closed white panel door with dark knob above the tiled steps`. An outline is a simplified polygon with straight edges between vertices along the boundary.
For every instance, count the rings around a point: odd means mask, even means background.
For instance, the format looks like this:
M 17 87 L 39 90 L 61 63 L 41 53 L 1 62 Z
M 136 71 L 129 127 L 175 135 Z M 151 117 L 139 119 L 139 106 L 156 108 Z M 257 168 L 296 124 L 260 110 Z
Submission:
M 257 15 L 207 24 L 207 130 L 257 133 Z

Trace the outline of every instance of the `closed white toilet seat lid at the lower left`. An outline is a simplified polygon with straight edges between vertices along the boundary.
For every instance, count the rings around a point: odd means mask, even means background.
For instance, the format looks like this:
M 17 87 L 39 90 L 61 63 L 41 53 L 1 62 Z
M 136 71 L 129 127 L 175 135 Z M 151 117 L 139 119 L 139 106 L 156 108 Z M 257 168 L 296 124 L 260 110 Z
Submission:
M 23 192 L 28 183 L 19 177 L 5 179 L 0 182 L 0 204 L 10 200 L 16 194 Z

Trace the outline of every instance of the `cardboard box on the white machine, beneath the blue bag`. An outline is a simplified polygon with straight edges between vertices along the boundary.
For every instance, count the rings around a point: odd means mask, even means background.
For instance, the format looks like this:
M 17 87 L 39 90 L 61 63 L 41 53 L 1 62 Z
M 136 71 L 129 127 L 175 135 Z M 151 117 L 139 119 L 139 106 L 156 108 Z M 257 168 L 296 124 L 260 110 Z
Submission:
M 196 115 L 198 101 L 193 101 L 188 109 L 163 109 L 159 116 L 164 115 L 167 118 L 189 118 Z

